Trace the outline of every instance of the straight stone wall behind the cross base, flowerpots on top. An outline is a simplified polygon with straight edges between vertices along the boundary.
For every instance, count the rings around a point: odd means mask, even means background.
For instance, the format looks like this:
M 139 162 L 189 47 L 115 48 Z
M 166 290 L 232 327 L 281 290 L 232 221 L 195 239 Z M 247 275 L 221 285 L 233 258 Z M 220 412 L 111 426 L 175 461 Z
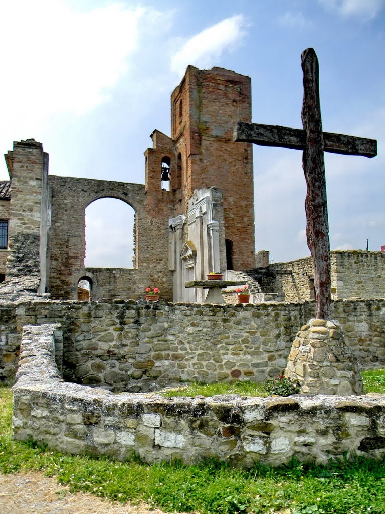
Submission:
M 338 300 L 332 311 L 361 369 L 383 367 L 385 300 Z M 3 312 L 4 376 L 14 372 L 23 325 L 61 323 L 66 380 L 139 392 L 175 380 L 275 377 L 286 366 L 298 330 L 314 316 L 314 302 L 35 300 L 3 304 Z

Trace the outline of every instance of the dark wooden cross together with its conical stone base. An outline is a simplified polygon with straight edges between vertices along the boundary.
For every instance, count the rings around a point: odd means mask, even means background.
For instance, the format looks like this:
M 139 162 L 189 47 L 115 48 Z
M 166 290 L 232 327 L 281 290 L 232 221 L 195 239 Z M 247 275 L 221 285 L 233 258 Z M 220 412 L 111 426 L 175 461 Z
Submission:
M 338 321 L 331 317 L 331 264 L 328 200 L 323 152 L 377 155 L 375 139 L 322 131 L 318 85 L 318 59 L 313 48 L 302 52 L 303 130 L 239 122 L 236 141 L 303 150 L 307 246 L 313 258 L 317 296 L 316 319 L 307 322 L 293 342 L 286 378 L 298 380 L 301 392 L 313 394 L 360 394 L 362 380 Z M 342 365 L 341 365 L 342 364 Z

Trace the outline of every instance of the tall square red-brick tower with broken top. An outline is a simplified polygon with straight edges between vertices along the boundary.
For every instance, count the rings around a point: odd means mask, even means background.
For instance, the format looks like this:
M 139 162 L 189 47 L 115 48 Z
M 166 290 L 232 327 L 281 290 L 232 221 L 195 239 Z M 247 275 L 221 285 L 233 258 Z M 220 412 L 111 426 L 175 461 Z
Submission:
M 251 114 L 251 79 L 223 68 L 188 66 L 171 95 L 176 214 L 187 212 L 195 190 L 222 191 L 228 269 L 255 267 L 252 144 L 233 141 L 237 122 Z

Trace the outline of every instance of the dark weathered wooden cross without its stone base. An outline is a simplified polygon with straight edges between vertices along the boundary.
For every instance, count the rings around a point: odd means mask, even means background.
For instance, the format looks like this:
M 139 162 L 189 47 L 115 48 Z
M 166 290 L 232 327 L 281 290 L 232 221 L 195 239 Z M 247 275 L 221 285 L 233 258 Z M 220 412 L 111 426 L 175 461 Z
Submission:
M 316 52 L 313 48 L 307 48 L 302 52 L 301 59 L 303 130 L 238 122 L 234 131 L 234 140 L 303 150 L 302 166 L 307 185 L 306 237 L 314 264 L 316 317 L 329 319 L 332 301 L 330 242 L 323 152 L 374 157 L 377 155 L 377 140 L 322 131 Z

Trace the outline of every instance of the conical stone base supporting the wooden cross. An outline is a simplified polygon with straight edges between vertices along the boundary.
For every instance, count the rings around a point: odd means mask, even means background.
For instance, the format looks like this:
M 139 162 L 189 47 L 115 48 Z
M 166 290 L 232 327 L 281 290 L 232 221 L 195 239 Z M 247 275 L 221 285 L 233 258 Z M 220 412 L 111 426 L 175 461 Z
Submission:
M 311 319 L 297 333 L 285 377 L 300 384 L 301 393 L 362 394 L 358 364 L 338 321 Z

